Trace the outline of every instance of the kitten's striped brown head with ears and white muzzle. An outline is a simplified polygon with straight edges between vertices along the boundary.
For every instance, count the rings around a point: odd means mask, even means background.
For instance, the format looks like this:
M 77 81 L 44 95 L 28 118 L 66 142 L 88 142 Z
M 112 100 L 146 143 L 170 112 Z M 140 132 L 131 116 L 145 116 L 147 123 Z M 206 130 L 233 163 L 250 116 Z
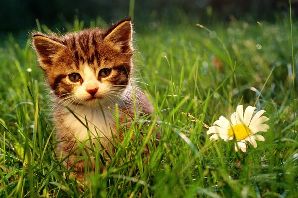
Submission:
M 86 29 L 64 36 L 37 33 L 33 42 L 49 86 L 66 105 L 114 102 L 129 84 L 130 19 L 108 30 Z

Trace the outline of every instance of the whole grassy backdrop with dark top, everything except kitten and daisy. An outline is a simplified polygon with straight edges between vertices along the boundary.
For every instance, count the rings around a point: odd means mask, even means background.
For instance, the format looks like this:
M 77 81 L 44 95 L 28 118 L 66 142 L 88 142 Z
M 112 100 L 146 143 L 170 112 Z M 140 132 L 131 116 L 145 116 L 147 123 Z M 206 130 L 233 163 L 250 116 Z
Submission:
M 289 0 L 0 0 L 0 198 L 297 198 L 298 0 L 291 6 L 292 21 Z M 129 16 L 138 84 L 162 140 L 144 161 L 143 142 L 126 141 L 81 192 L 54 154 L 31 32 L 107 28 Z M 265 142 L 244 154 L 234 142 L 210 142 L 202 124 L 238 104 L 270 118 Z

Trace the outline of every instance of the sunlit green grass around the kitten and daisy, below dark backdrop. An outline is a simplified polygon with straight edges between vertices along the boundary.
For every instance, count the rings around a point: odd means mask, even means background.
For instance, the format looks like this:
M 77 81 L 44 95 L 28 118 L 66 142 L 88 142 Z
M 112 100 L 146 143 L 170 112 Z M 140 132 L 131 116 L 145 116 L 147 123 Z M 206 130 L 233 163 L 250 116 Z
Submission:
M 82 25 L 76 21 L 74 29 Z M 95 171 L 84 190 L 54 154 L 49 92 L 30 40 L 19 45 L 10 35 L 2 42 L 0 197 L 297 196 L 298 43 L 291 43 L 289 20 L 233 21 L 208 27 L 211 33 L 195 24 L 152 27 L 136 30 L 135 66 L 160 121 L 153 120 L 143 134 L 142 122 L 127 129 L 111 162 L 94 148 L 86 162 L 96 156 L 98 167 L 105 163 L 105 168 Z M 203 126 L 229 117 L 238 104 L 265 109 L 270 118 L 270 129 L 260 133 L 265 142 L 247 153 L 235 153 L 232 141 L 211 142 Z M 162 138 L 157 147 L 149 145 L 146 159 L 142 149 L 155 122 Z

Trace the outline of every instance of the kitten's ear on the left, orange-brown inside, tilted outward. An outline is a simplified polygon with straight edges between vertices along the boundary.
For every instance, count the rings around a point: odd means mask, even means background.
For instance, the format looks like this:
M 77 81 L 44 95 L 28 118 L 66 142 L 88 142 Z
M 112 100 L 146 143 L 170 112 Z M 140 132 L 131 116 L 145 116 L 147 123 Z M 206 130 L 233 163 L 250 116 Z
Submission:
M 66 48 L 63 44 L 42 34 L 33 35 L 33 44 L 39 57 L 40 66 L 44 70 L 52 65 L 52 59 L 55 57 L 55 54 Z

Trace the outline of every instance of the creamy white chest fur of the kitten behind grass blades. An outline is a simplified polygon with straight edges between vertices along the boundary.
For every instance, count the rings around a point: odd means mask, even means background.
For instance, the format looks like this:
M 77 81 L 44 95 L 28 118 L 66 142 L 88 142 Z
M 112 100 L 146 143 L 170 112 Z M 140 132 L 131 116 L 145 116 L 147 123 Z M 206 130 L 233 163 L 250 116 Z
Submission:
M 109 109 L 101 110 L 100 108 L 79 106 L 74 108 L 73 111 L 77 118 L 71 112 L 67 112 L 63 123 L 70 128 L 70 133 L 72 133 L 72 136 L 74 136 L 77 141 L 83 142 L 89 139 L 89 134 L 92 139 L 112 137 L 111 130 L 115 119 Z M 84 124 L 82 124 L 82 122 Z M 88 132 L 88 129 L 84 125 L 89 127 L 90 132 Z

